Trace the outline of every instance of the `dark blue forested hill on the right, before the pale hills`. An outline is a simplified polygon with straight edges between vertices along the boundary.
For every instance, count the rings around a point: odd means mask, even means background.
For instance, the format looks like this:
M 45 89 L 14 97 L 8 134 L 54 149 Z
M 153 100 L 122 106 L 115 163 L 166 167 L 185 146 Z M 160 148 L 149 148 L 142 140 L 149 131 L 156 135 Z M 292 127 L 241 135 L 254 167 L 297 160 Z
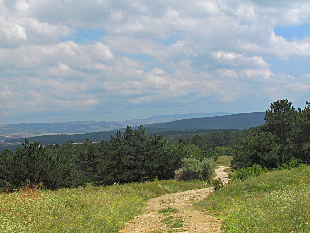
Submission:
M 244 130 L 265 123 L 265 112 L 238 113 L 218 117 L 203 117 L 156 123 L 145 127 L 166 129 L 238 129 Z

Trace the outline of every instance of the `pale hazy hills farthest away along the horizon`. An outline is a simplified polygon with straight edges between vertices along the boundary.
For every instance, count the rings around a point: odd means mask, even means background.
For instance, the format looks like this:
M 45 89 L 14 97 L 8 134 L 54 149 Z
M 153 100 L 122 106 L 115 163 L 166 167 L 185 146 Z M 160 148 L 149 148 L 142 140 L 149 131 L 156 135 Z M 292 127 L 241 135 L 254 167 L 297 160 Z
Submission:
M 188 113 L 176 115 L 153 116 L 146 119 L 126 121 L 76 121 L 55 123 L 20 123 L 0 125 L 0 140 L 33 137 L 51 134 L 84 134 L 91 132 L 109 131 L 129 126 L 148 125 L 188 118 L 211 117 L 233 114 L 229 112 Z

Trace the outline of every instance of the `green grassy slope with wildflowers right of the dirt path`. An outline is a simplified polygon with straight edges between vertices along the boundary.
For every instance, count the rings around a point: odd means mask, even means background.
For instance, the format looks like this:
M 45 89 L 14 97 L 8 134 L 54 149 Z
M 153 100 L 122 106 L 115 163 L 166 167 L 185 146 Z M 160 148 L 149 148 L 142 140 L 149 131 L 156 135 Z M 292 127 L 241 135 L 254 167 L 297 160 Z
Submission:
M 198 205 L 219 212 L 225 232 L 310 232 L 310 167 L 231 182 Z

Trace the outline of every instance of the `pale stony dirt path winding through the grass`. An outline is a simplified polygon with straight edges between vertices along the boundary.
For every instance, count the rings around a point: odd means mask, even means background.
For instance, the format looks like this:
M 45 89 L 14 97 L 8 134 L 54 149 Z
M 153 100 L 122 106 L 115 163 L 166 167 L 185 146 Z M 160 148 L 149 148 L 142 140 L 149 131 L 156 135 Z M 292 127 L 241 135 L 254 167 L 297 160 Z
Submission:
M 220 166 L 216 169 L 217 176 L 215 179 L 221 178 L 224 183 L 228 182 L 227 167 Z M 201 199 L 206 198 L 213 192 L 213 188 L 188 190 L 174 194 L 162 195 L 158 198 L 148 200 L 145 213 L 135 217 L 131 222 L 127 223 L 120 233 L 164 233 L 164 232 L 204 232 L 217 233 L 221 231 L 221 222 L 219 218 L 212 214 L 204 213 L 201 210 L 195 210 L 193 204 Z M 174 208 L 176 212 L 170 212 L 166 215 L 159 213 L 160 210 L 166 208 Z M 172 216 L 172 217 L 170 217 Z M 162 222 L 167 217 L 183 220 L 183 226 L 179 228 L 171 228 L 171 225 Z

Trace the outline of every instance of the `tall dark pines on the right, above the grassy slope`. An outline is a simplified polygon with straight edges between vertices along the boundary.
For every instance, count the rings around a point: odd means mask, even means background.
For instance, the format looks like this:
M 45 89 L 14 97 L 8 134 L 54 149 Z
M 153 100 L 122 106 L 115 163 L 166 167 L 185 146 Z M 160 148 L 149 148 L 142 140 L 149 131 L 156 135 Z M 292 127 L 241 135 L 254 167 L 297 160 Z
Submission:
M 288 164 L 310 162 L 310 105 L 298 111 L 287 99 L 271 104 L 265 124 L 251 129 L 234 148 L 232 168 L 259 164 L 269 170 Z M 285 166 L 285 165 L 283 165 Z

